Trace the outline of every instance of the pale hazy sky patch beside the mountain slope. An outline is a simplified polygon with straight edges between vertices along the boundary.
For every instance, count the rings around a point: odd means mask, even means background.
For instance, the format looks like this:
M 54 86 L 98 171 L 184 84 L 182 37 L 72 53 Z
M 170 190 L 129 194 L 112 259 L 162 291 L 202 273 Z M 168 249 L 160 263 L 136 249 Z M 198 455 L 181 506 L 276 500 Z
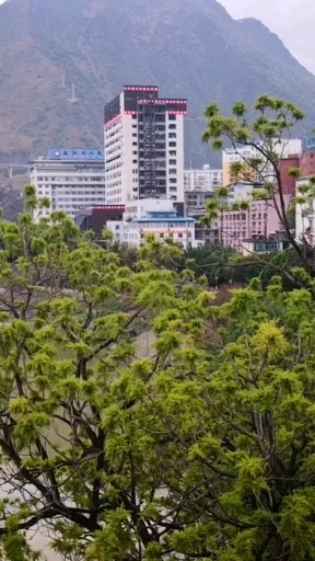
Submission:
M 233 18 L 254 16 L 277 33 L 292 55 L 315 73 L 315 0 L 219 0 Z

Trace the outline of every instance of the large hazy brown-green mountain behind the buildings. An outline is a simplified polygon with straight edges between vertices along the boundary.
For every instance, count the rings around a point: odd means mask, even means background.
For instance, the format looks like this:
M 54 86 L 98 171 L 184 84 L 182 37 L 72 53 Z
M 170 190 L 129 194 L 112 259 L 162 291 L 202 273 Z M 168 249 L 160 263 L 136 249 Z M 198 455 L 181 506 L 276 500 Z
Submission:
M 72 83 L 78 103 L 70 103 Z M 209 161 L 201 118 L 260 93 L 315 119 L 315 77 L 259 21 L 215 0 L 8 0 L 0 5 L 0 161 L 103 142 L 103 107 L 124 83 L 187 96 L 187 163 Z

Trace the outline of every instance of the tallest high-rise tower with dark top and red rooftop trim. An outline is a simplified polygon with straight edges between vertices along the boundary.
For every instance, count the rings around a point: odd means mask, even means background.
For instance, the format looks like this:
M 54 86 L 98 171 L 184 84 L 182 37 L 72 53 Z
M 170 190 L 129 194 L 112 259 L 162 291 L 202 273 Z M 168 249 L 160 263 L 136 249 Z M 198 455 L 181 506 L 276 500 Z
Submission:
M 105 105 L 106 203 L 138 198 L 184 202 L 187 100 L 160 99 L 159 88 L 125 85 Z

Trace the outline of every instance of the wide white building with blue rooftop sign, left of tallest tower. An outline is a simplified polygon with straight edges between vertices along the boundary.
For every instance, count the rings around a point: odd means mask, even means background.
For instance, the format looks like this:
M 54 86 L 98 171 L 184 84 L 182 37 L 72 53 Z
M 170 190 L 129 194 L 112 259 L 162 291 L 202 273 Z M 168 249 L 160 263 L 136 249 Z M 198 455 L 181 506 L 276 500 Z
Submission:
M 35 220 L 52 210 L 63 210 L 71 218 L 86 206 L 105 204 L 103 150 L 48 150 L 46 158 L 32 162 L 30 182 L 38 197 L 48 197 L 50 208 L 35 211 Z

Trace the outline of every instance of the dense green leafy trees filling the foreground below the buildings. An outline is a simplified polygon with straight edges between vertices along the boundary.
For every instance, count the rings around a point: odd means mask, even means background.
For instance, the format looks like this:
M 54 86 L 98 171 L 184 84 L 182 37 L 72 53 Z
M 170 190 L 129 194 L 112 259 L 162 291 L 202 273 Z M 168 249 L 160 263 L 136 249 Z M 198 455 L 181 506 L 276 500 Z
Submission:
M 133 272 L 62 214 L 0 241 L 2 558 L 40 529 L 69 560 L 314 559 L 313 280 L 218 307 L 172 243 Z

